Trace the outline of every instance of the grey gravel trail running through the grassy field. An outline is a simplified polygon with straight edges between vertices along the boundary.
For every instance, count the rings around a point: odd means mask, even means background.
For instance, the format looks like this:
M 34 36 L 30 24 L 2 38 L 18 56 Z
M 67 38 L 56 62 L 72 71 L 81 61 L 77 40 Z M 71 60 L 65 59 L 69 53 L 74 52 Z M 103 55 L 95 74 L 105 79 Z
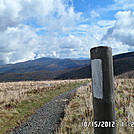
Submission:
M 20 128 L 10 134 L 54 134 L 64 117 L 65 105 L 78 88 L 71 89 L 55 97 L 38 109 Z

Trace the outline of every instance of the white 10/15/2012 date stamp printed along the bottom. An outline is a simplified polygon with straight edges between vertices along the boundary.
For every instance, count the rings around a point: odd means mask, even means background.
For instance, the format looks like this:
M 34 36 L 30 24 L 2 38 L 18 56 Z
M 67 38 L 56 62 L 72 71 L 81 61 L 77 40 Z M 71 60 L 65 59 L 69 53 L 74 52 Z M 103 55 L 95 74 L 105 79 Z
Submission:
M 115 122 L 115 121 L 91 121 L 91 122 L 82 122 L 83 127 L 134 127 L 133 122 Z

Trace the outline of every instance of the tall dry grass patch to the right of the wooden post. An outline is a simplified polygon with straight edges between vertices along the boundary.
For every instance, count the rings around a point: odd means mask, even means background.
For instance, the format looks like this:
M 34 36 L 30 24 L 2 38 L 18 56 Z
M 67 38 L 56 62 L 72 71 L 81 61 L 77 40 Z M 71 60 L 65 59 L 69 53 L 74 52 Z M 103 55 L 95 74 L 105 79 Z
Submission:
M 116 79 L 115 104 L 117 133 L 134 134 L 134 127 L 121 126 L 121 123 L 133 122 L 134 126 L 134 79 Z M 132 125 L 132 123 L 129 123 Z

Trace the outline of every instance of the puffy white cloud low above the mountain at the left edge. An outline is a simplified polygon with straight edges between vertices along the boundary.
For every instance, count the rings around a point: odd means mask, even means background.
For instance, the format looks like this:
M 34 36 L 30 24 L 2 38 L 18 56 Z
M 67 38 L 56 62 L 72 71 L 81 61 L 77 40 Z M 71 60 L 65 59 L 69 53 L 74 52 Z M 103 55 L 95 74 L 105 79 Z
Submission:
M 37 35 L 25 25 L 8 27 L 5 32 L 0 32 L 1 64 L 34 59 L 37 39 Z

